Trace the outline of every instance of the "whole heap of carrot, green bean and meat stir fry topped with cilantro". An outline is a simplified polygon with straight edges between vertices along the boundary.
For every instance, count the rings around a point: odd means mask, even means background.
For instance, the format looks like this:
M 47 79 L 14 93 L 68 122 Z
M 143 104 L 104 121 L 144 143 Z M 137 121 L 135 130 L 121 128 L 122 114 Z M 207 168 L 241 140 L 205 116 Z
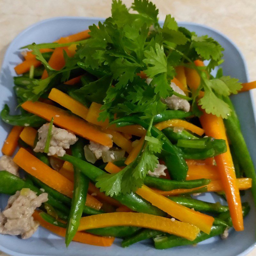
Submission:
M 223 76 L 218 42 L 157 15 L 148 0 L 113 0 L 103 23 L 22 48 L 20 114 L 1 111 L 13 127 L 0 233 L 28 238 L 41 225 L 67 246 L 152 238 L 166 249 L 244 230 L 242 190 L 256 203 L 256 176 L 229 95 L 256 83 Z M 206 192 L 220 202 L 195 198 Z

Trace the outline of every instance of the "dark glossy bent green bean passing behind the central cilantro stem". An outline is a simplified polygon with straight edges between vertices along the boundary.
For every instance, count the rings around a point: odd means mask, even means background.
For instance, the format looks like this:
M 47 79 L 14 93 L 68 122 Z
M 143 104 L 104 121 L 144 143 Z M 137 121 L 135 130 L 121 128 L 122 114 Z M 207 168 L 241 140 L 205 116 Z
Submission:
M 112 123 L 116 124 L 117 126 L 124 126 L 127 125 L 127 123 L 140 124 L 145 129 L 149 129 L 149 125 L 145 121 L 135 116 L 119 118 Z M 182 152 L 180 152 L 177 147 L 174 146 L 171 141 L 163 134 L 163 132 L 159 131 L 156 127 L 151 127 L 151 134 L 155 138 L 161 138 L 163 142 L 163 150 L 161 152 L 161 155 L 172 180 L 186 180 L 188 165 L 183 158 Z M 179 170 L 179 172 L 177 172 L 177 170 Z

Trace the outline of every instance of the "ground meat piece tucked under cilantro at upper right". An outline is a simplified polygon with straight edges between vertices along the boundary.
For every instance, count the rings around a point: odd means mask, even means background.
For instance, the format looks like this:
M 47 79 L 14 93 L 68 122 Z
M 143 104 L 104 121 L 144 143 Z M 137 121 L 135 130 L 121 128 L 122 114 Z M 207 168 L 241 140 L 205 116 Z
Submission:
M 171 83 L 170 86 L 172 87 L 174 92 L 178 92 L 179 94 L 185 95 L 185 93 L 176 84 Z M 181 99 L 180 97 L 175 95 L 162 99 L 162 101 L 166 103 L 168 105 L 168 108 L 170 109 L 181 109 L 185 112 L 188 112 L 190 109 L 190 104 L 188 100 Z

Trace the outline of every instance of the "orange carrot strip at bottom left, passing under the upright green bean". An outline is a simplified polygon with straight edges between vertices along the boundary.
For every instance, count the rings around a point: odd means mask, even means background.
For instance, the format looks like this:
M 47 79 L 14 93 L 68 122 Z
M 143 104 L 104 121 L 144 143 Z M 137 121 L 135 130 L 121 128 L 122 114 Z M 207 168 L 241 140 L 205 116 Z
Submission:
M 47 222 L 40 216 L 38 211 L 35 211 L 33 213 L 33 218 L 34 220 L 39 222 L 40 226 L 50 230 L 52 233 L 58 236 L 66 236 L 66 228 L 57 227 Z M 115 240 L 115 237 L 96 236 L 85 232 L 77 232 L 73 240 L 84 244 L 111 246 Z

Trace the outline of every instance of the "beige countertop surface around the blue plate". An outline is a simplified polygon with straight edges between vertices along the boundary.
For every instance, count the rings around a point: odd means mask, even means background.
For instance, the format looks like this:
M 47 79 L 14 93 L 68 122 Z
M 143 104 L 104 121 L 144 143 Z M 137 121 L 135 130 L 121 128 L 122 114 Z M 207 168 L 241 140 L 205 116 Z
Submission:
M 123 0 L 130 5 L 132 0 Z M 159 19 L 171 13 L 178 21 L 208 25 L 227 35 L 240 48 L 251 80 L 256 80 L 255 0 L 153 0 Z M 111 0 L 0 0 L 0 65 L 12 39 L 37 21 L 57 16 L 108 17 Z M 254 97 L 256 93 L 254 92 Z M 0 253 L 0 256 L 4 254 Z M 256 255 L 256 249 L 248 256 Z

